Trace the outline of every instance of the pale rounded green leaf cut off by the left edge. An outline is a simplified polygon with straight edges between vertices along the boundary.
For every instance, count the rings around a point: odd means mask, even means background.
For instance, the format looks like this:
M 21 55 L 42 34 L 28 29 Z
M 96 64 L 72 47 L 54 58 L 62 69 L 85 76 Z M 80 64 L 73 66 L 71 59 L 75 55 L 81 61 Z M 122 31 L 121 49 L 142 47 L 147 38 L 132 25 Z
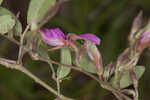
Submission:
M 15 20 L 10 15 L 0 16 L 0 33 L 5 34 L 15 25 Z

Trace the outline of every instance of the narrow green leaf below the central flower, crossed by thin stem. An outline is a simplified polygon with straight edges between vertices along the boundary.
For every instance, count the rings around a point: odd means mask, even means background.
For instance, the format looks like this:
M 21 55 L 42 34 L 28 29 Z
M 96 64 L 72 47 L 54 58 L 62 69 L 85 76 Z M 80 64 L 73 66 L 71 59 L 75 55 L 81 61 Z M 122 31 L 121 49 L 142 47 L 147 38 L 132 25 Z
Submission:
M 61 49 L 61 63 L 71 65 L 71 52 L 68 48 Z M 57 77 L 59 79 L 65 78 L 71 71 L 71 68 L 65 66 L 59 66 L 57 69 Z

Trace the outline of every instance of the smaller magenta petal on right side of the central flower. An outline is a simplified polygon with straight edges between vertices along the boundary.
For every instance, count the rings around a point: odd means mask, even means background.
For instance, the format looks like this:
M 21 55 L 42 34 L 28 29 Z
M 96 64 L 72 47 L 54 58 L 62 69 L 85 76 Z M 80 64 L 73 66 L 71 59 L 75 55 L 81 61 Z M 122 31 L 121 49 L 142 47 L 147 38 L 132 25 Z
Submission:
M 96 44 L 100 44 L 100 42 L 101 42 L 101 40 L 97 36 L 95 36 L 94 34 L 91 34 L 91 33 L 81 34 L 79 36 L 85 40 L 92 41 Z

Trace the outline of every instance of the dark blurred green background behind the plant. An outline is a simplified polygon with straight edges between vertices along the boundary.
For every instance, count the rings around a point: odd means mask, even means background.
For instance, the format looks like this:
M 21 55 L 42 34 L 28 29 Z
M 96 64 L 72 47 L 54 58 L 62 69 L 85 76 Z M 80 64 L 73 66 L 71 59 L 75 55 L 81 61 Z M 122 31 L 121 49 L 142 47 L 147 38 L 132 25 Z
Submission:
M 23 27 L 29 0 L 5 0 L 3 7 L 14 14 L 20 12 Z M 144 22 L 150 18 L 150 0 L 68 0 L 45 26 L 60 27 L 65 33 L 93 33 L 101 38 L 98 48 L 103 56 L 104 65 L 115 61 L 117 56 L 128 46 L 128 35 L 132 21 L 142 10 Z M 0 37 L 0 57 L 16 59 L 18 47 Z M 58 60 L 59 52 L 50 53 Z M 46 63 L 32 61 L 24 57 L 25 66 L 35 75 L 56 88 L 51 79 L 50 68 Z M 150 100 L 150 50 L 143 53 L 138 63 L 146 66 L 146 72 L 140 79 L 140 100 Z M 61 84 L 61 92 L 77 100 L 116 100 L 107 90 L 82 73 L 72 71 L 71 79 Z M 6 69 L 0 65 L 0 100 L 53 100 L 54 95 L 36 84 L 21 72 Z

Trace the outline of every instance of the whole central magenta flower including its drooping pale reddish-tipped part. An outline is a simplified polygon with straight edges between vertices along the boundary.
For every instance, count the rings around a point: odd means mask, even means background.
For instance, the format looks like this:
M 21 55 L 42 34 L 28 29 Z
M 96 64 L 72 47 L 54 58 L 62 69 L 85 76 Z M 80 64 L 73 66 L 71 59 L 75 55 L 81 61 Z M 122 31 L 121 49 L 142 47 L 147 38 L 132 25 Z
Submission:
M 46 42 L 50 46 L 57 46 L 58 49 L 66 46 L 71 47 L 77 53 L 77 64 L 79 62 L 80 54 L 83 52 L 87 52 L 90 59 L 95 63 L 97 73 L 102 75 L 103 66 L 102 66 L 102 58 L 101 54 L 98 51 L 95 44 L 100 44 L 100 39 L 91 33 L 85 33 L 81 35 L 76 35 L 73 33 L 68 34 L 67 36 L 59 29 L 42 29 L 41 37 L 44 42 Z M 83 39 L 85 40 L 86 45 L 82 45 L 81 49 L 78 50 L 75 41 Z M 57 48 L 56 47 L 56 48 Z

